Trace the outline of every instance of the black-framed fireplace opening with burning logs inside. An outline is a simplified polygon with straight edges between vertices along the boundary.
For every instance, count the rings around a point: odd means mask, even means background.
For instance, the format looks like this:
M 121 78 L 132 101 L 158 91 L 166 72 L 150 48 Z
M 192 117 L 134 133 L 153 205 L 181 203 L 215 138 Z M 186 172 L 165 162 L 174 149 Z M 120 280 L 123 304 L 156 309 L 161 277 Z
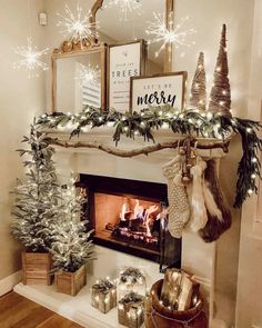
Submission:
M 181 240 L 167 228 L 167 185 L 80 175 L 93 241 L 164 267 L 181 265 Z

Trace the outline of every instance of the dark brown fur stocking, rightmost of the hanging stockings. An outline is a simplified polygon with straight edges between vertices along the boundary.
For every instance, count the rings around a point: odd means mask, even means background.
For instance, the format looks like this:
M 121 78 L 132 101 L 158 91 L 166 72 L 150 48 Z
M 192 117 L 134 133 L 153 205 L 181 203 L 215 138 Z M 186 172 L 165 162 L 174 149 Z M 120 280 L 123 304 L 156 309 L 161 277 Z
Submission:
M 205 178 L 205 201 L 208 207 L 208 223 L 201 229 L 200 236 L 204 241 L 211 242 L 216 240 L 225 230 L 231 227 L 231 212 L 224 201 L 223 192 L 219 186 L 218 161 L 209 160 L 208 168 L 204 173 Z M 212 195 L 213 200 L 210 198 Z M 209 206 L 208 206 L 209 203 Z M 215 209 L 219 207 L 219 211 Z

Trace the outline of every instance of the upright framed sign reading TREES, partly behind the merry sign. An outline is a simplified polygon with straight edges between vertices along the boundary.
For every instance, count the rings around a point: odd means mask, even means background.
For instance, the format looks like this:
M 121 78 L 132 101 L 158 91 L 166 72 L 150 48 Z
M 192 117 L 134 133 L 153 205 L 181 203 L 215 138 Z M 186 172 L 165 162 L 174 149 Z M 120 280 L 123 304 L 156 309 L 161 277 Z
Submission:
M 130 109 L 130 78 L 144 74 L 145 57 L 144 40 L 109 46 L 109 108 L 122 112 Z

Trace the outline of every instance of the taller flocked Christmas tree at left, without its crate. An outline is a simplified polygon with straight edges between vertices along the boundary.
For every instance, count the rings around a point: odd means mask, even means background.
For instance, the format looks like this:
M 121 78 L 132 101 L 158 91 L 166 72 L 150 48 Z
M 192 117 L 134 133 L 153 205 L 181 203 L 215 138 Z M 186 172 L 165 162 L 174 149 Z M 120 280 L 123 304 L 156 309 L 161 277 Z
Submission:
M 31 126 L 30 137 L 24 137 L 27 149 L 19 149 L 24 158 L 26 180 L 18 180 L 11 226 L 12 233 L 28 251 L 47 251 L 51 246 L 51 225 L 59 216 L 60 188 L 57 185 L 52 156 L 54 149 L 44 141 L 44 135 Z

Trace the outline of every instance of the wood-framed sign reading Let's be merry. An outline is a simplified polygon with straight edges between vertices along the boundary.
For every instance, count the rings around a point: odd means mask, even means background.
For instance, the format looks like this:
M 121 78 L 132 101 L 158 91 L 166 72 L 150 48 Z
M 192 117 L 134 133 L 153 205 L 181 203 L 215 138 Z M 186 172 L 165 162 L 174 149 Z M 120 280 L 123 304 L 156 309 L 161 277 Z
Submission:
M 182 111 L 185 102 L 187 78 L 185 71 L 131 78 L 130 108 L 140 111 L 150 106 L 170 105 Z

